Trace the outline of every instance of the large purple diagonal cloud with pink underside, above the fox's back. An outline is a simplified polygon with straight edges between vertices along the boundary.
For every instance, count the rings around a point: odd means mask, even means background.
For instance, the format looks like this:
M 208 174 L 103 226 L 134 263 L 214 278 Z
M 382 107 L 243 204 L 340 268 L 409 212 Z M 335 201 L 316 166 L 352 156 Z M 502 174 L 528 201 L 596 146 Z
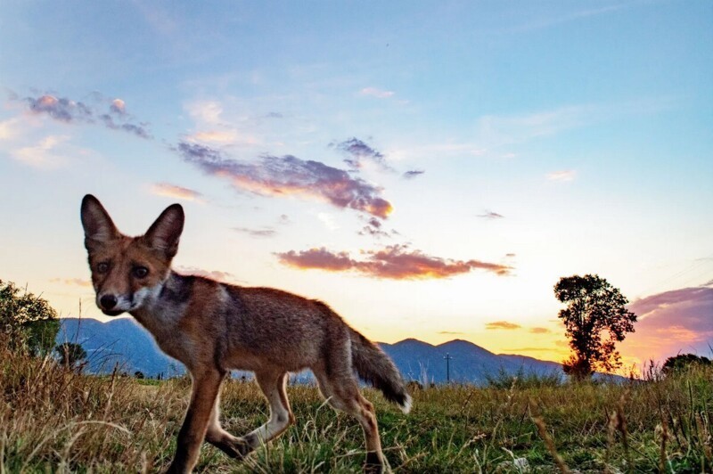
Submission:
M 186 142 L 179 143 L 176 151 L 209 175 L 228 179 L 235 188 L 261 196 L 321 200 L 382 219 L 389 217 L 392 210 L 391 203 L 381 198 L 381 188 L 319 161 L 291 155 L 265 155 L 258 162 L 238 161 L 226 159 L 215 148 Z

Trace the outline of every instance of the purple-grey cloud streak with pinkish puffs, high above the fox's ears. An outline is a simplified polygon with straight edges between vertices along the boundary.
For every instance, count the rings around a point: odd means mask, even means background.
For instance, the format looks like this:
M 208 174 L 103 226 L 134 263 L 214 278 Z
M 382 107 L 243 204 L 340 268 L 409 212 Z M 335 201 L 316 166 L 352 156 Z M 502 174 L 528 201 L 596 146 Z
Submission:
M 46 115 L 60 122 L 99 123 L 104 127 L 111 128 L 111 130 L 120 130 L 145 139 L 152 138 L 152 135 L 146 129 L 146 124 L 135 124 L 129 121 L 131 117 L 127 114 L 126 103 L 121 99 L 111 101 L 106 112 L 97 109 L 94 105 L 76 102 L 66 97 L 55 97 L 50 94 L 39 97 L 26 97 L 24 102 L 27 103 L 30 112 L 37 115 Z

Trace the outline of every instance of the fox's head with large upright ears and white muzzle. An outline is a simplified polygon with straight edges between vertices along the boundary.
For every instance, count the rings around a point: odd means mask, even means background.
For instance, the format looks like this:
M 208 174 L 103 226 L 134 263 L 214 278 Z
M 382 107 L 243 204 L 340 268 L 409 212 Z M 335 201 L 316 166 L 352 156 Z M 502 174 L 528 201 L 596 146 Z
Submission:
M 91 194 L 82 200 L 81 217 L 96 306 L 104 315 L 134 311 L 158 296 L 178 251 L 184 209 L 179 204 L 169 206 L 139 237 L 119 233 Z

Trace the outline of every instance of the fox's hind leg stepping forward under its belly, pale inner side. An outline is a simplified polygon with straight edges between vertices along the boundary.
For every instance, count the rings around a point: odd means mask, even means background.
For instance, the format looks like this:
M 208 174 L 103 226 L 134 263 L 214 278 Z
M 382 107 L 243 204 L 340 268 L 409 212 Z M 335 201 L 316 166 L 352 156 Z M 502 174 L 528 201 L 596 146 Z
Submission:
M 251 449 L 280 436 L 295 422 L 287 399 L 287 372 L 256 372 L 255 379 L 270 404 L 270 419 L 258 429 L 242 437 Z

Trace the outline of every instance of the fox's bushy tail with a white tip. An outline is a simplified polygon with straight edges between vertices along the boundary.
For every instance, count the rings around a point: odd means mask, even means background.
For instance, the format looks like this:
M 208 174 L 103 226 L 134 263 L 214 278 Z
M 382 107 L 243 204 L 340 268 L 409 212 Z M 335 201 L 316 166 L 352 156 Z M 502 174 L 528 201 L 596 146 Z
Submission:
M 384 397 L 401 407 L 404 413 L 411 410 L 411 396 L 396 365 L 389 356 L 364 336 L 349 328 L 352 361 L 359 377 L 379 388 Z

